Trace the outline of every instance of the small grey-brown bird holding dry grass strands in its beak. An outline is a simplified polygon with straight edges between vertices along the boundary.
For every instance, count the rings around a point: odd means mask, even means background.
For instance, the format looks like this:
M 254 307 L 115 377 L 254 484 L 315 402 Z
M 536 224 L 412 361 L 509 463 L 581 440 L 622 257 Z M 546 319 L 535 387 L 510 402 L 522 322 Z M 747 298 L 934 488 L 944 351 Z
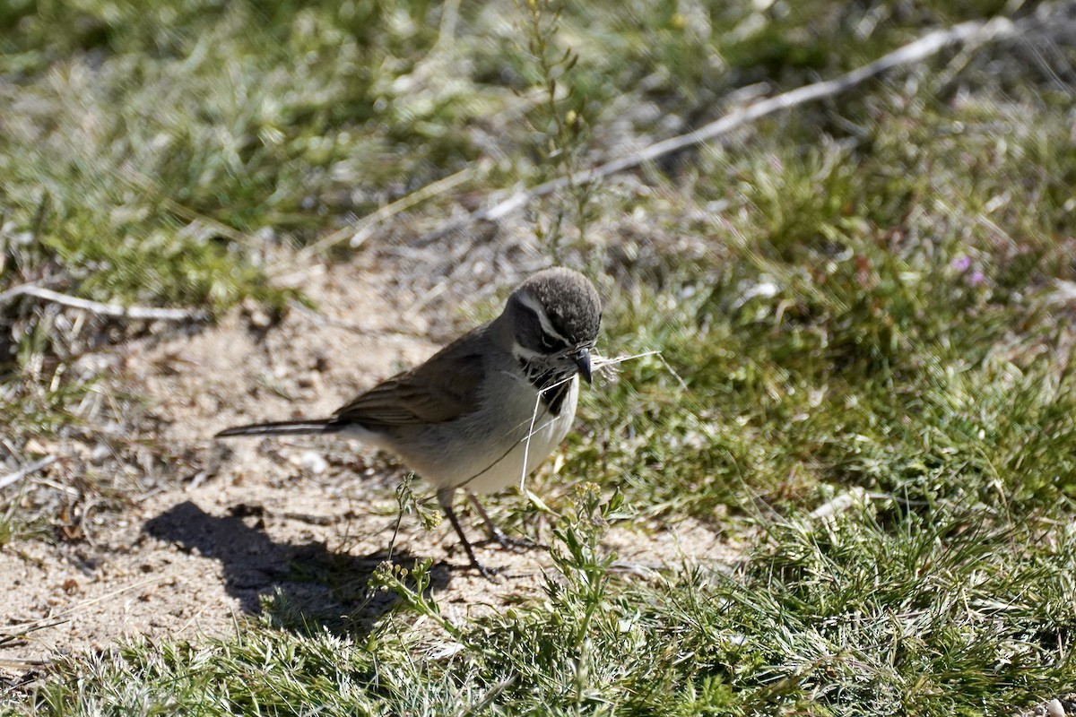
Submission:
M 567 435 L 580 378 L 592 382 L 601 314 L 586 276 L 565 267 L 546 269 L 512 290 L 499 316 L 331 416 L 237 426 L 216 438 L 342 434 L 395 454 L 436 487 L 470 567 L 490 575 L 453 511 L 455 492 L 466 492 L 492 540 L 511 542 L 478 494 L 519 483 Z

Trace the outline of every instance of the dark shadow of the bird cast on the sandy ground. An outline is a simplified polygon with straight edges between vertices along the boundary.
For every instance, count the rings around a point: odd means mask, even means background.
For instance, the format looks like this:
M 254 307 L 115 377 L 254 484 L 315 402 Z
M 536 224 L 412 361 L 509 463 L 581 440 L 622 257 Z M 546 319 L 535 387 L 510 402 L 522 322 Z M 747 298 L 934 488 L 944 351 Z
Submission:
M 324 543 L 277 542 L 261 529 L 257 510 L 249 506 L 237 506 L 231 515 L 220 517 L 187 501 L 150 519 L 143 530 L 182 550 L 218 560 L 225 590 L 243 612 L 261 613 L 264 599 L 271 596 L 266 612 L 273 625 L 284 629 L 326 628 L 354 636 L 365 633 L 399 601 L 392 591 L 368 587 L 387 554 L 353 556 L 335 553 Z M 406 551 L 393 554 L 397 564 L 410 567 L 414 559 Z M 448 585 L 447 565 L 435 564 L 429 574 L 427 590 Z

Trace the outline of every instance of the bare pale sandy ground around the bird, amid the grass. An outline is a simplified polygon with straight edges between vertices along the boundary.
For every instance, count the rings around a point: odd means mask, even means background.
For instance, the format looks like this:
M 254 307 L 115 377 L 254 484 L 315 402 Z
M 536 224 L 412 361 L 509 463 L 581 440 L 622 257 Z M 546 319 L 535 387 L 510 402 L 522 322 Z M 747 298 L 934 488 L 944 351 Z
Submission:
M 236 424 L 327 415 L 433 354 L 440 344 L 427 336 L 443 342 L 459 327 L 431 327 L 421 310 L 428 296 L 358 260 L 315 264 L 295 281 L 317 301 L 316 314 L 296 309 L 273 322 L 256 307 L 237 309 L 215 326 L 111 349 L 107 363 L 144 401 L 130 430 L 162 446 L 166 459 L 151 469 L 152 489 L 100 514 L 80 540 L 0 549 L 0 668 L 9 678 L 121 640 L 231 634 L 241 616 L 259 612 L 263 596 L 280 593 L 326 623 L 372 619 L 391 606 L 364 597 L 388 557 L 400 467 L 339 440 L 212 435 Z M 477 521 L 468 527 L 481 536 Z M 606 544 L 640 579 L 663 565 L 736 555 L 692 521 L 656 533 L 618 526 Z M 447 521 L 427 531 L 413 516 L 400 521 L 393 545 L 404 565 L 434 560 L 433 589 L 450 617 L 539 590 L 550 564 L 540 549 L 485 546 L 480 559 L 499 571 L 486 579 L 467 569 Z

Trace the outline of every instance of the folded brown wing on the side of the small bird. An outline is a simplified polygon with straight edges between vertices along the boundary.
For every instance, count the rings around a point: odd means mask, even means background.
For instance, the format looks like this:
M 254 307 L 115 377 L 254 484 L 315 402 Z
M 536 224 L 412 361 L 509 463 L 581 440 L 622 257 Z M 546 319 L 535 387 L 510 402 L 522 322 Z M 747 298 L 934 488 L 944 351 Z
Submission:
M 481 329 L 478 329 L 479 331 Z M 441 424 L 475 411 L 483 356 L 473 333 L 461 336 L 425 363 L 378 384 L 339 408 L 332 422 L 360 426 Z

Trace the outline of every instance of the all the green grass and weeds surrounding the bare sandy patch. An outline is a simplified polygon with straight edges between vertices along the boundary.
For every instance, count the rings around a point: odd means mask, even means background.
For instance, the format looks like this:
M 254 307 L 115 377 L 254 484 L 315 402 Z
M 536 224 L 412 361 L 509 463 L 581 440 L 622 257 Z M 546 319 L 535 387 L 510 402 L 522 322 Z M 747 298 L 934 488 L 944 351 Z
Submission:
M 283 309 L 267 254 L 440 178 L 465 173 L 394 232 L 1022 8 L 76 4 L 0 9 L 0 292 L 211 313 Z M 550 256 L 604 277 L 605 352 L 661 352 L 596 382 L 536 478 L 541 599 L 452 621 L 428 565 L 386 568 L 400 601 L 372 627 L 278 597 L 231 639 L 72 656 L 4 708 L 1011 715 L 1076 691 L 1076 54 L 1025 27 L 1034 62 L 943 54 L 537 203 Z M 0 302 L 6 449 L 93 389 L 57 320 Z M 494 506 L 523 531 L 538 510 Z M 610 521 L 683 515 L 752 547 L 646 578 L 600 548 Z M 0 512 L 0 549 L 40 525 Z

